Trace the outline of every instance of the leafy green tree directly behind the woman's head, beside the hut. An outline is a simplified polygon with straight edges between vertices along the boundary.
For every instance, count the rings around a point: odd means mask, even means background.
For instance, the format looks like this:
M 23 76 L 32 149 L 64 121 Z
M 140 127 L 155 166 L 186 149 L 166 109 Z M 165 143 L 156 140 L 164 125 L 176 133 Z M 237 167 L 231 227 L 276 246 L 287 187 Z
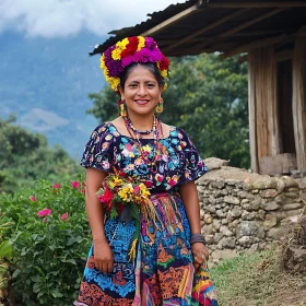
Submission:
M 203 54 L 173 58 L 170 69 L 163 121 L 185 129 L 203 157 L 249 167 L 247 64 Z M 108 85 L 90 98 L 89 113 L 98 120 L 117 116 L 118 97 Z

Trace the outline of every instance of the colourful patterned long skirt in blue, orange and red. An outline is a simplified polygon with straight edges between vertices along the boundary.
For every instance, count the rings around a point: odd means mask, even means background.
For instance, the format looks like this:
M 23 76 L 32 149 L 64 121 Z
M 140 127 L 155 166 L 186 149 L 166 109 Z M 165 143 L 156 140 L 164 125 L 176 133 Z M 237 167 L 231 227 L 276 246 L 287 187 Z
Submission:
M 216 306 L 209 271 L 195 271 L 190 227 L 179 196 L 154 195 L 155 221 L 141 217 L 134 260 L 129 251 L 136 222 L 108 219 L 105 234 L 114 255 L 114 272 L 95 268 L 91 247 L 75 306 Z

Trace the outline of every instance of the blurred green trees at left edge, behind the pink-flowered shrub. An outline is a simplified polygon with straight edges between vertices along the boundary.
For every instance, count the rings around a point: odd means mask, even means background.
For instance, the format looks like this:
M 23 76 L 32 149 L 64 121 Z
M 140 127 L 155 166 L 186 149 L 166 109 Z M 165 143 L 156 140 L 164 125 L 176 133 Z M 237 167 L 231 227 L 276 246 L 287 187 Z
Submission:
M 0 191 L 31 187 L 38 178 L 54 183 L 75 175 L 76 163 L 60 146 L 48 148 L 45 136 L 0 118 Z

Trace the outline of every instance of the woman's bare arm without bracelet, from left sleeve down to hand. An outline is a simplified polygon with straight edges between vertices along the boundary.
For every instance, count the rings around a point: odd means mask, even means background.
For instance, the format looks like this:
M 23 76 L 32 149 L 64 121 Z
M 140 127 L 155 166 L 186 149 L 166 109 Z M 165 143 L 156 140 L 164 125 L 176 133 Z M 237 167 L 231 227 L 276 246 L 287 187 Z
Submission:
M 105 172 L 92 167 L 87 168 L 85 201 L 94 242 L 95 267 L 103 273 L 108 273 L 114 270 L 113 252 L 104 233 L 104 209 L 96 196 L 105 176 Z

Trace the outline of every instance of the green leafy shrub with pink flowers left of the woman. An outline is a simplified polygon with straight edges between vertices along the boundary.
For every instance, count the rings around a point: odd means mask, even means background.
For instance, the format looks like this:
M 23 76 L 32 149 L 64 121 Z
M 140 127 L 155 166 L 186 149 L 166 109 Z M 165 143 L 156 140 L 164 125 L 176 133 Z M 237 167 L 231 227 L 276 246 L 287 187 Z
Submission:
M 11 240 L 9 259 L 14 305 L 71 305 L 91 244 L 84 191 L 79 181 L 36 183 L 33 189 L 0 196 L 0 225 Z

